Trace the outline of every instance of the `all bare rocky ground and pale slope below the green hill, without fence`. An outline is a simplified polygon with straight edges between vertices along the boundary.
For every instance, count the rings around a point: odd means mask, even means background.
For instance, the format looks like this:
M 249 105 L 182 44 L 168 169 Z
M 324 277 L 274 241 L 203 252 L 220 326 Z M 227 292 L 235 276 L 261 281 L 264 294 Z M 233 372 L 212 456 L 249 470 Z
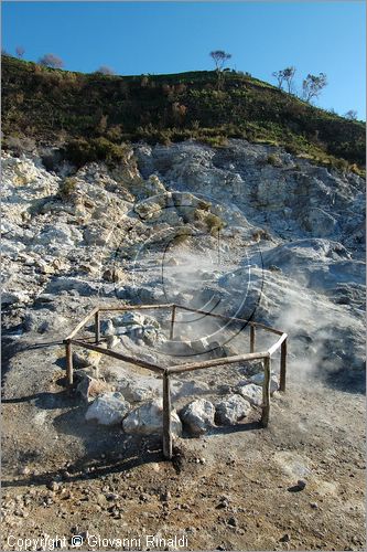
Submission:
M 363 549 L 364 181 L 234 139 L 78 170 L 51 148 L 6 152 L 2 185 L 3 534 Z M 79 350 L 65 386 L 62 340 L 95 306 L 166 302 L 289 333 L 269 428 L 261 363 L 176 379 L 172 464 L 156 376 Z M 161 365 L 249 351 L 244 327 L 181 312 L 170 340 L 169 322 L 106 315 L 104 347 Z

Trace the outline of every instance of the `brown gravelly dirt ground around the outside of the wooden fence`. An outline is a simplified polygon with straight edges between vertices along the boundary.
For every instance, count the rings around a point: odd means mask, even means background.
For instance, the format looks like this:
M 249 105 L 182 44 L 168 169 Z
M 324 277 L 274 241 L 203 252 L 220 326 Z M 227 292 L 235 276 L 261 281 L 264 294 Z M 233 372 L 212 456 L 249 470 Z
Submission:
M 48 550 L 45 535 L 68 550 L 76 534 L 79 550 L 365 550 L 363 394 L 300 383 L 293 370 L 268 428 L 253 417 L 177 439 L 171 463 L 160 439 L 85 422 L 63 386 L 60 343 L 14 359 L 2 399 L 1 550 Z

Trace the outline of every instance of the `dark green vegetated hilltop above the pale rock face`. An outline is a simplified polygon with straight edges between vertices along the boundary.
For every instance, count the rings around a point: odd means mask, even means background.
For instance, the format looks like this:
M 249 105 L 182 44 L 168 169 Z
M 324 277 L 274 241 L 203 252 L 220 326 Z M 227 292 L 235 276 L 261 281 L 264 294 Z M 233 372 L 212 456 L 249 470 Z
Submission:
M 2 91 L 6 147 L 22 137 L 39 144 L 82 139 L 83 150 L 83 139 L 95 139 L 98 156 L 105 151 L 118 158 L 114 147 L 123 141 L 193 138 L 222 146 L 227 138 L 244 138 L 284 146 L 291 153 L 339 169 L 360 172 L 365 167 L 364 123 L 316 108 L 241 73 L 224 73 L 218 89 L 215 71 L 83 74 L 7 55 Z

